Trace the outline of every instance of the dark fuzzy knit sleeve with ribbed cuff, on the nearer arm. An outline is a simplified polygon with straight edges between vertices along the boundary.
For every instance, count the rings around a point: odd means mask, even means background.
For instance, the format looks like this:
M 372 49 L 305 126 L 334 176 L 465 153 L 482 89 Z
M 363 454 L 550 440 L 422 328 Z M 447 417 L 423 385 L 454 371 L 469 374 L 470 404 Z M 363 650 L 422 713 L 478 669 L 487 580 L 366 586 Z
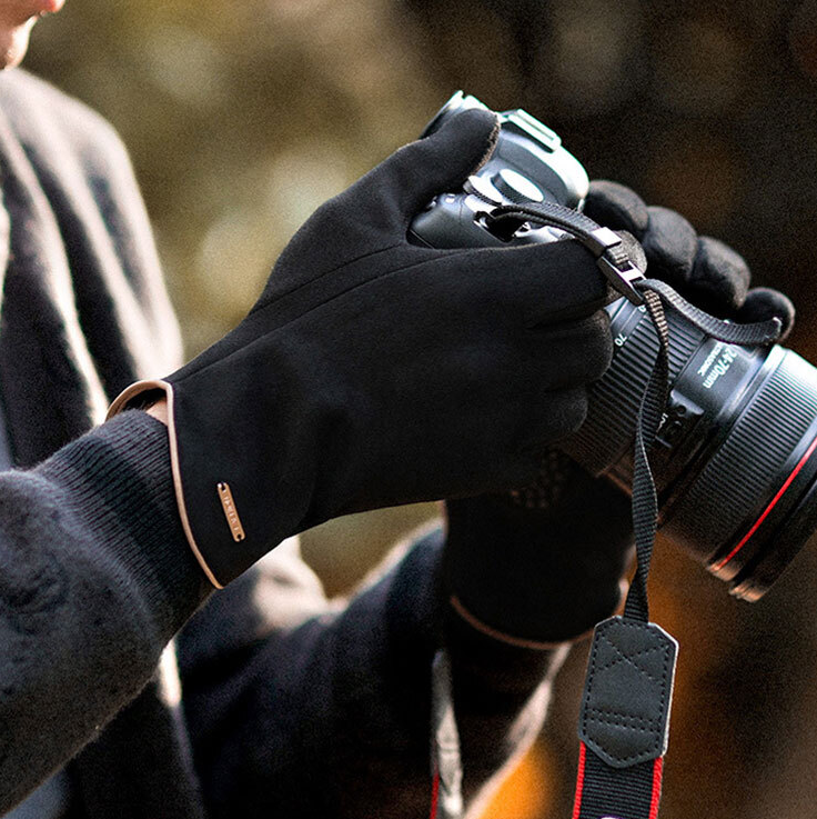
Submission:
M 0 815 L 133 699 L 205 593 L 147 413 L 0 475 Z

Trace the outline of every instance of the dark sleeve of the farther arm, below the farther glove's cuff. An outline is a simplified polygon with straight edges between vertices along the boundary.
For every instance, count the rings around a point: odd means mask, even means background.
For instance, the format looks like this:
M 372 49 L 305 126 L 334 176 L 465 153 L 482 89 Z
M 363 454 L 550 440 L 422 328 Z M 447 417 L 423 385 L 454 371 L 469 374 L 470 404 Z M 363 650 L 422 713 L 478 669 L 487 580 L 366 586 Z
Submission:
M 263 633 L 263 588 L 248 639 L 216 646 L 220 592 L 182 632 L 184 709 L 213 819 L 345 819 L 428 815 L 432 662 L 447 645 L 468 816 L 542 727 L 564 650 L 500 643 L 473 630 L 440 592 L 435 530 L 386 561 L 349 602 L 323 603 Z M 243 581 L 239 581 L 240 583 Z M 249 600 L 248 596 L 243 596 Z M 274 617 L 272 618 L 274 621 Z M 228 627 L 229 628 L 229 627 Z

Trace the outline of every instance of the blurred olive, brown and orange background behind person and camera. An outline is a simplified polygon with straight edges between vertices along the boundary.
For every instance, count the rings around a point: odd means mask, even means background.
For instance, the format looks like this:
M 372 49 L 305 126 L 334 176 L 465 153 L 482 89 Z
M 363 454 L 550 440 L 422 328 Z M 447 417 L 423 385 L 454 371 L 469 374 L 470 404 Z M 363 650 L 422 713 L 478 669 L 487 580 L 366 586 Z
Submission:
M 817 0 L 69 0 L 27 64 L 130 147 L 190 353 L 317 204 L 463 88 L 734 244 L 817 361 Z M 305 550 L 342 592 L 435 512 L 335 521 Z M 813 817 L 817 543 L 755 606 L 668 543 L 655 562 L 653 616 L 682 646 L 662 816 Z M 585 651 L 490 817 L 569 816 Z

